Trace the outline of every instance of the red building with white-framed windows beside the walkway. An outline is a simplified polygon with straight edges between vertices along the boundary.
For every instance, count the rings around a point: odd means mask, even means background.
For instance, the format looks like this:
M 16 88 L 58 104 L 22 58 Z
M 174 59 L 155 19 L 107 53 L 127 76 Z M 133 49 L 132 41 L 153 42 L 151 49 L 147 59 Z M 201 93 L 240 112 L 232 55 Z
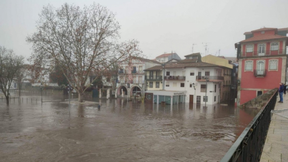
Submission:
M 260 28 L 245 32 L 235 43 L 238 71 L 237 105 L 286 82 L 288 28 Z

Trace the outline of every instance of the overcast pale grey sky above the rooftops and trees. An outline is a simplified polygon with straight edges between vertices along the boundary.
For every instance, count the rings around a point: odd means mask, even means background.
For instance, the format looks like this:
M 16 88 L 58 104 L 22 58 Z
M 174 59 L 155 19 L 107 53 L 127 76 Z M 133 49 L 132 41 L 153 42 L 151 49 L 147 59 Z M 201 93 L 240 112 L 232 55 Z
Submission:
M 265 27 L 288 27 L 288 0 L 0 0 L 0 46 L 29 57 L 27 35 L 43 5 L 79 6 L 92 2 L 116 13 L 121 40 L 137 39 L 148 59 L 175 51 L 181 58 L 193 52 L 235 57 L 234 43 L 243 33 Z

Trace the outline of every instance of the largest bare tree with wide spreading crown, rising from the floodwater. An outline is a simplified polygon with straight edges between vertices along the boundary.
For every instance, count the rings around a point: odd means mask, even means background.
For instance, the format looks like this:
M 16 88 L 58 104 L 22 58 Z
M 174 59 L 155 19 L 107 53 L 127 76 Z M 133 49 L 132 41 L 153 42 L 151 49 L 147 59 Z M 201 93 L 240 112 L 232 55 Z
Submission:
M 30 61 L 35 69 L 60 65 L 78 92 L 79 102 L 90 86 L 86 84 L 89 74 L 99 74 L 114 63 L 142 53 L 136 40 L 118 42 L 120 25 L 115 14 L 100 4 L 93 3 L 82 9 L 68 3 L 60 8 L 48 5 L 39 17 L 37 32 L 27 37 L 34 51 Z

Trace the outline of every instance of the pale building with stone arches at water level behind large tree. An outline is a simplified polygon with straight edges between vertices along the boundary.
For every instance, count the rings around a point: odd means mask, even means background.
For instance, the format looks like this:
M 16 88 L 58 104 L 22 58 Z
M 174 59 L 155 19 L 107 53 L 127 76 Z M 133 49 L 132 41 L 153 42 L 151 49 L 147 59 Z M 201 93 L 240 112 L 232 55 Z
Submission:
M 130 97 L 136 92 L 146 89 L 145 69 L 159 66 L 161 63 L 144 59 L 141 57 L 132 57 L 127 62 L 119 64 L 116 97 Z

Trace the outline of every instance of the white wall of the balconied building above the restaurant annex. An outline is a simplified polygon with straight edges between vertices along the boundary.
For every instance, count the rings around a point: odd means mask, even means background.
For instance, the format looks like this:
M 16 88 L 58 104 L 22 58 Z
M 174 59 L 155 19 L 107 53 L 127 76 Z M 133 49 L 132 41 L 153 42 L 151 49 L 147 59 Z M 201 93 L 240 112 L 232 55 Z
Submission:
M 169 73 L 167 72 L 169 72 L 170 75 L 168 75 Z M 220 68 L 165 69 L 164 89 L 170 91 L 187 91 L 185 96 L 185 102 L 191 102 L 190 95 L 193 95 L 193 103 L 205 104 L 204 100 L 205 96 L 208 97 L 208 101 L 206 102 L 206 104 L 218 103 L 220 97 L 220 81 L 217 80 L 207 81 L 207 93 L 206 93 L 205 92 L 206 81 L 196 80 L 196 77 L 198 76 L 199 72 L 201 72 L 201 76 L 203 78 L 205 76 L 205 72 L 209 72 L 209 76 L 220 77 L 221 75 Z M 172 77 L 172 79 L 170 80 L 169 76 L 173 76 L 174 78 Z M 179 78 L 183 79 L 184 77 L 185 80 L 179 80 Z M 195 85 L 195 89 L 193 83 Z

